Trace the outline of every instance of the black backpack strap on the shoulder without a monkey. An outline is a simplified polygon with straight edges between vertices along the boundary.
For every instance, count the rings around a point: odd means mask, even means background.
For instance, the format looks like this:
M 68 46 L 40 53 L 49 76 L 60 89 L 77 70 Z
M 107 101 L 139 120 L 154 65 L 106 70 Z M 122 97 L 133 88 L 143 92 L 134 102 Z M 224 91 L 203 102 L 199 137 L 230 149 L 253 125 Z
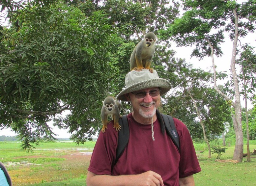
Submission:
M 173 118 L 169 115 L 161 114 L 163 118 L 164 125 L 167 129 L 168 135 L 171 137 L 174 145 L 177 146 L 178 150 L 180 151 L 180 141 L 179 141 L 179 135 L 176 130 Z

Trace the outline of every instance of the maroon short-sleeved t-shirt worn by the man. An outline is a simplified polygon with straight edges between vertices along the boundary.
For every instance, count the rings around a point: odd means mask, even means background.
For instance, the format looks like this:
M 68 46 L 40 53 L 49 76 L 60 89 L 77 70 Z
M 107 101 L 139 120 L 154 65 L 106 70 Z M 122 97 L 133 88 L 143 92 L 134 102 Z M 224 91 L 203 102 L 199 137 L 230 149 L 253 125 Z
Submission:
M 164 185 L 179 185 L 179 178 L 201 171 L 195 149 L 183 122 L 173 119 L 180 139 L 180 151 L 167 133 L 161 133 L 160 123 L 154 124 L 152 139 L 151 124 L 136 122 L 127 116 L 130 130 L 128 145 L 111 172 L 116 158 L 118 132 L 111 121 L 105 133 L 100 132 L 93 150 L 88 171 L 95 174 L 125 175 L 154 171 L 161 175 Z

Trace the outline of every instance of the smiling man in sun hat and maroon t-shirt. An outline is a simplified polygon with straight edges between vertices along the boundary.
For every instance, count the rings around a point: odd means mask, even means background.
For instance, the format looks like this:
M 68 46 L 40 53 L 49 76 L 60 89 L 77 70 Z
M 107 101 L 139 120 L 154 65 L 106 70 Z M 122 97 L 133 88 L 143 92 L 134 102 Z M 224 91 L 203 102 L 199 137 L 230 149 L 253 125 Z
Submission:
M 194 185 L 193 174 L 201 171 L 195 149 L 184 123 L 174 118 L 180 150 L 171 138 L 161 132 L 156 116 L 160 96 L 171 89 L 171 83 L 158 77 L 154 70 L 131 71 L 126 88 L 117 99 L 130 101 L 128 145 L 114 164 L 118 132 L 113 122 L 100 132 L 87 174 L 87 185 Z

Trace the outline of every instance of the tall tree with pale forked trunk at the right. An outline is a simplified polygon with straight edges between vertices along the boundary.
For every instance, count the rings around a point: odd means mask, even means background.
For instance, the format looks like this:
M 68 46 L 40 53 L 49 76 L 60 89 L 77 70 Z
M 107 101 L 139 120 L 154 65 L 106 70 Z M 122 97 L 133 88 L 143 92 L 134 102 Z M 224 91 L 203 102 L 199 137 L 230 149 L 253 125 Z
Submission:
M 230 0 L 184 0 L 183 5 L 186 12 L 181 18 L 174 20 L 174 24 L 170 25 L 166 30 L 160 31 L 161 38 L 171 37 L 179 46 L 195 44 L 195 49 L 191 56 L 196 56 L 199 59 L 204 56 L 211 56 L 214 88 L 235 109 L 235 120 L 233 122 L 236 131 L 236 146 L 233 159 L 242 162 L 241 101 L 235 64 L 238 38 L 245 36 L 248 32 L 255 31 L 255 0 L 249 0 L 242 4 Z M 214 55 L 219 57 L 222 54 L 220 43 L 223 42 L 224 32 L 228 32 L 230 39 L 233 40 L 230 67 L 234 82 L 235 101 L 232 101 L 231 96 L 219 90 L 216 83 L 217 73 L 214 65 Z

